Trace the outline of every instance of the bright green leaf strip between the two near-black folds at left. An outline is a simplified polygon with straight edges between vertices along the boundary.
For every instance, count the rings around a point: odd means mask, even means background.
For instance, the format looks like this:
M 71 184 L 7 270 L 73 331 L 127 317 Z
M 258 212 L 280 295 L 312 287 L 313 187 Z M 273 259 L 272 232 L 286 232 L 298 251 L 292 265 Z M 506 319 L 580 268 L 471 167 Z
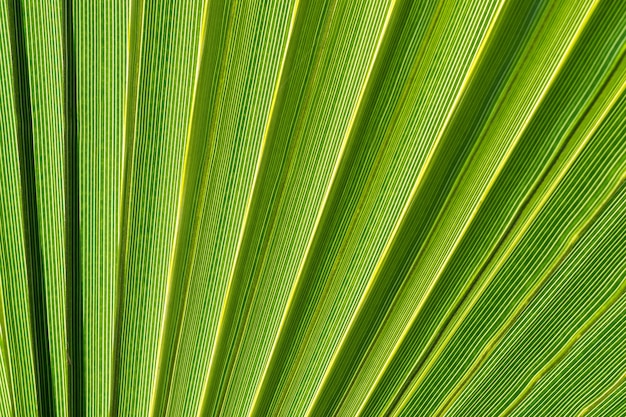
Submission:
M 44 409 L 67 415 L 64 257 L 64 119 L 62 3 L 22 2 L 22 24 L 28 59 L 36 210 L 39 222 L 41 279 L 44 281 L 47 339 L 53 397 Z M 41 348 L 45 349 L 45 346 Z M 43 362 L 43 361 L 42 361 Z M 45 367 L 45 365 L 43 365 Z M 42 378 L 46 378 L 42 376 Z M 50 410 L 52 412 L 52 410 Z

